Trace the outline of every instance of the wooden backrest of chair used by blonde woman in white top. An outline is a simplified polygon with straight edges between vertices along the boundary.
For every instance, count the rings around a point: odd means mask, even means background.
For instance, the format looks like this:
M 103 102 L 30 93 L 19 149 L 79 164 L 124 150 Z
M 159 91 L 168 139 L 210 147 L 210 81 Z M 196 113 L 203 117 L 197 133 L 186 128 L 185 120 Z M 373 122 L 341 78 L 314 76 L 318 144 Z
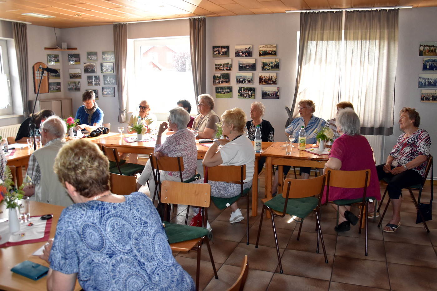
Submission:
M 203 172 L 207 182 L 220 181 L 241 184 L 246 179 L 246 165 L 204 167 Z

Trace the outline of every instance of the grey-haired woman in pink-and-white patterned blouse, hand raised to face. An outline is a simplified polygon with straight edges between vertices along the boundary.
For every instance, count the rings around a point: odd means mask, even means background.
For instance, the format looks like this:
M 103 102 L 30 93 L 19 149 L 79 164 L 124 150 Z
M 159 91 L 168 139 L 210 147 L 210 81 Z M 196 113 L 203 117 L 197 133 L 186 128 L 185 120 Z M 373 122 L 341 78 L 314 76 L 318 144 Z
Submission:
M 163 122 L 158 129 L 158 135 L 156 138 L 155 151 L 153 155 L 156 159 L 160 156 L 178 157 L 181 156 L 184 159 L 184 171 L 182 172 L 182 180 L 190 179 L 196 173 L 197 166 L 197 147 L 196 140 L 193 133 L 187 129 L 187 123 L 190 121 L 190 115 L 182 107 L 176 107 L 171 109 L 168 123 Z M 170 128 L 174 131 L 173 135 L 167 136 L 164 143 L 161 143 L 162 134 Z M 149 180 L 150 194 L 155 192 L 155 182 L 153 181 L 152 165 L 150 160 L 147 161 L 141 176 L 138 178 L 137 190 L 141 185 L 146 185 Z M 161 171 L 161 181 L 180 181 L 179 172 L 167 172 Z

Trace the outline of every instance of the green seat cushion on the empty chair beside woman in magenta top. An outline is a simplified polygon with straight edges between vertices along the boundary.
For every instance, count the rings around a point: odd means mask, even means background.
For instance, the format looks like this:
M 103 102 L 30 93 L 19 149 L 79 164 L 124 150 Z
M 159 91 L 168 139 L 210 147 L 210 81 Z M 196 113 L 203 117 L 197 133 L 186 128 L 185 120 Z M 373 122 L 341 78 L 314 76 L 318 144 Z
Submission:
M 285 198 L 282 197 L 282 194 L 277 194 L 264 204 L 276 211 L 282 212 L 284 211 Z M 316 197 L 289 198 L 285 212 L 289 215 L 305 218 L 317 207 L 317 204 L 319 204 L 319 199 Z

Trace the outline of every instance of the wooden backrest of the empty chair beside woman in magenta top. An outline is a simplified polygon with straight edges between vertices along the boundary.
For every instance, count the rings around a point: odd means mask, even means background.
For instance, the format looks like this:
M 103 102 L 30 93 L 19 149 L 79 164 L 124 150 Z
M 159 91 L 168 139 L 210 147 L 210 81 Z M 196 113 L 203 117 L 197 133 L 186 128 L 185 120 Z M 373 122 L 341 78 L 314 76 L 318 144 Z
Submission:
M 323 193 L 325 187 L 326 174 L 312 179 L 285 179 L 282 197 L 303 198 L 316 196 Z

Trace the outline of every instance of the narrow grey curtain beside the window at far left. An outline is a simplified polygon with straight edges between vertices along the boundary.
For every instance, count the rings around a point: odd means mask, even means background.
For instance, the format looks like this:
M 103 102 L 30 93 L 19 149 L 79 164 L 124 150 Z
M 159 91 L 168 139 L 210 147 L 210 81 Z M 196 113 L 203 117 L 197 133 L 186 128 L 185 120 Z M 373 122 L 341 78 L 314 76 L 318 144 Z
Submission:
M 18 75 L 20 76 L 21 100 L 23 101 L 24 118 L 29 116 L 29 77 L 28 77 L 28 46 L 27 24 L 14 22 L 14 41 L 17 52 Z

